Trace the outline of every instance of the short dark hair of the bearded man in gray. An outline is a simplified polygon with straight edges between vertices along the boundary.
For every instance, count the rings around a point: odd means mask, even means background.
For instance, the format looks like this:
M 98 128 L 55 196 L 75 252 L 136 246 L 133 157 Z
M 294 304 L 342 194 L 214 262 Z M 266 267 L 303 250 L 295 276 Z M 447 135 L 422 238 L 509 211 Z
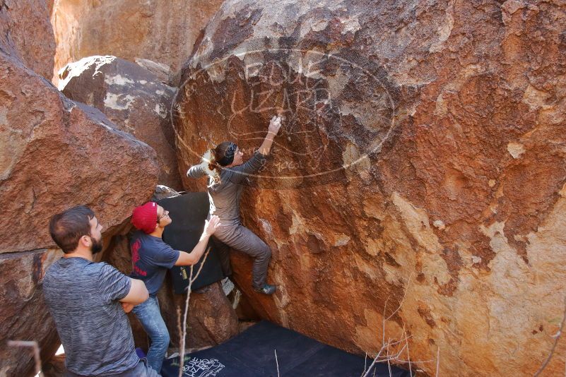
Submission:
M 90 220 L 95 217 L 86 205 L 77 205 L 57 213 L 49 221 L 49 233 L 64 253 L 71 253 L 83 236 L 90 236 Z

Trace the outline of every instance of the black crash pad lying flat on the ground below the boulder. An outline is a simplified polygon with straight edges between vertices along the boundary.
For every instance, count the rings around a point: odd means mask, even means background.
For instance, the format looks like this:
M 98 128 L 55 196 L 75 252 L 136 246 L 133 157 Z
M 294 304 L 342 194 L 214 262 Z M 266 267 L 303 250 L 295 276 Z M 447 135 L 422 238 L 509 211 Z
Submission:
M 360 377 L 371 359 L 324 345 L 293 330 L 261 321 L 216 347 L 188 354 L 184 377 Z M 389 377 L 387 364 L 377 364 L 375 376 Z M 161 375 L 177 377 L 179 358 L 166 359 Z M 372 369 L 370 376 L 374 376 Z M 391 376 L 410 377 L 408 371 L 391 366 Z

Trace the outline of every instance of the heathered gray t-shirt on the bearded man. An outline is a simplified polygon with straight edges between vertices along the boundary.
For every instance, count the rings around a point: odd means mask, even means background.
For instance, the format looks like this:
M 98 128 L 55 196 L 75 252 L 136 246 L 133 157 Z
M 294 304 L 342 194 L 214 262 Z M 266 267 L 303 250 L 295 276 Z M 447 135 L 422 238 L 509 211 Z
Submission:
M 130 323 L 118 301 L 130 286 L 129 277 L 106 263 L 61 258 L 49 267 L 43 293 L 69 371 L 109 376 L 138 364 Z

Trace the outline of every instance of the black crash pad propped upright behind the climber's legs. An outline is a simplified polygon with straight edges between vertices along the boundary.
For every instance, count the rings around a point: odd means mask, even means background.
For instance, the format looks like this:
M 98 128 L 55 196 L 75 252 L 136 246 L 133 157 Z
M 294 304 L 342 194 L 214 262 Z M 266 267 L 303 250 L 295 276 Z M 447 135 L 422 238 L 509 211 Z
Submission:
M 158 204 L 169 211 L 169 216 L 173 220 L 170 225 L 165 227 L 163 241 L 170 244 L 175 250 L 190 252 L 199 243 L 204 230 L 204 221 L 208 216 L 209 208 L 208 193 L 183 193 L 173 198 L 161 199 Z M 211 251 L 208 253 L 201 274 L 191 285 L 192 290 L 205 287 L 224 278 L 214 243 L 209 242 L 207 247 Z M 194 274 L 199 270 L 203 259 L 204 256 L 199 263 L 194 265 Z M 171 275 L 175 293 L 184 293 L 189 285 L 190 268 L 175 266 L 171 269 Z

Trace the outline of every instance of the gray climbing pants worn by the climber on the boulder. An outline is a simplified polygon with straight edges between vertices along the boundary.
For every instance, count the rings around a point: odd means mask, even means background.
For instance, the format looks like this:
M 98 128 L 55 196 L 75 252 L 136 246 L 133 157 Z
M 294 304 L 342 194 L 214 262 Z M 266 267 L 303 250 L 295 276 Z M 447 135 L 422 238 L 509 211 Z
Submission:
M 271 259 L 271 249 L 264 241 L 261 241 L 254 232 L 244 227 L 242 224 L 222 225 L 213 237 L 216 239 L 216 246 L 219 249 L 220 259 L 223 266 L 226 264 L 225 258 L 228 258 L 228 252 L 225 246 L 232 249 L 242 251 L 254 258 L 254 268 L 252 273 L 252 285 L 254 288 L 261 288 L 265 285 L 267 279 L 267 268 Z M 218 242 L 220 241 L 220 242 Z M 224 244 L 220 245 L 220 243 Z M 228 260 L 228 266 L 230 261 Z M 223 267 L 225 270 L 225 267 Z M 231 272 L 231 271 L 230 271 Z M 226 273 L 226 271 L 225 271 Z

